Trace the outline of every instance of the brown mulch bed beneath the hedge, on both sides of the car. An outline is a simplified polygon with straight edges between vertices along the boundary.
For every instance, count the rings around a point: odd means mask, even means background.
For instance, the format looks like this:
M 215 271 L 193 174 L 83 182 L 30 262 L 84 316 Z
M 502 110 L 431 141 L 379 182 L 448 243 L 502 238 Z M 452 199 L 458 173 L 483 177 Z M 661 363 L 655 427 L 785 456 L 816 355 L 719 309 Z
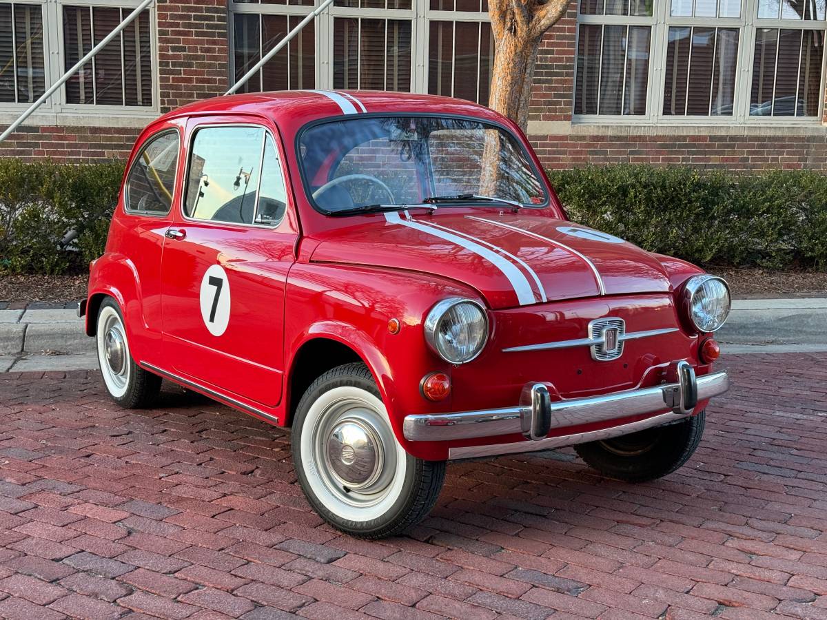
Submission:
M 827 295 L 827 272 L 710 268 L 735 297 Z M 0 302 L 74 302 L 86 297 L 88 275 L 0 275 Z

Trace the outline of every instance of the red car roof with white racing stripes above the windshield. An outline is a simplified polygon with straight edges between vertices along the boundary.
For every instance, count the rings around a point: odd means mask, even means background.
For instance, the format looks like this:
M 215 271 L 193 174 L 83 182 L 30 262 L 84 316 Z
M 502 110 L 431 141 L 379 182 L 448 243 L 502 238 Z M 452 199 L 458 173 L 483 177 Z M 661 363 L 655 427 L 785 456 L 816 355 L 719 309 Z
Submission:
M 370 90 L 286 90 L 250 93 L 203 99 L 167 112 L 158 119 L 176 117 L 254 114 L 272 118 L 276 123 L 294 127 L 319 118 L 371 112 L 414 112 L 457 114 L 485 118 L 494 122 L 504 119 L 490 108 L 463 99 L 418 93 Z

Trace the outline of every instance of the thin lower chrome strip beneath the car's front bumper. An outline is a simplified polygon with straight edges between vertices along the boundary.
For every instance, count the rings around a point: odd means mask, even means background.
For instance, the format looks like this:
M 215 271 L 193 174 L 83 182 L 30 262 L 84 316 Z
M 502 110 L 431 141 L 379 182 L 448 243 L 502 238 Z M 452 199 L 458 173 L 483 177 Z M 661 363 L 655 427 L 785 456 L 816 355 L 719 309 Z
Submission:
M 548 437 L 540 441 L 514 441 L 513 443 L 498 443 L 493 446 L 468 446 L 464 448 L 449 448 L 448 458 L 451 460 L 473 459 L 480 456 L 496 456 L 504 454 L 519 454 L 521 452 L 536 452 L 540 450 L 552 450 L 564 446 L 575 446 L 578 443 L 589 441 L 603 441 L 623 435 L 630 435 L 633 432 L 645 431 L 647 428 L 660 427 L 671 422 L 680 422 L 689 415 L 676 413 L 662 413 L 659 416 L 648 417 L 638 422 L 622 424 L 619 427 L 605 428 L 600 431 L 579 432 L 573 435 L 562 435 L 559 437 Z

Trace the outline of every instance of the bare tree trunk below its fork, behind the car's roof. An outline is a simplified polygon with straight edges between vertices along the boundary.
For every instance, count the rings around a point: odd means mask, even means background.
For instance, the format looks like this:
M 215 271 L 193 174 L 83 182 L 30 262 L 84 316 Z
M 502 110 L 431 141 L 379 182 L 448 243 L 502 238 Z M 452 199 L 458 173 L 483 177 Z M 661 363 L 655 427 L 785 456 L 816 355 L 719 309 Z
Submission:
M 512 30 L 496 41 L 489 107 L 528 129 L 528 104 L 541 37 Z

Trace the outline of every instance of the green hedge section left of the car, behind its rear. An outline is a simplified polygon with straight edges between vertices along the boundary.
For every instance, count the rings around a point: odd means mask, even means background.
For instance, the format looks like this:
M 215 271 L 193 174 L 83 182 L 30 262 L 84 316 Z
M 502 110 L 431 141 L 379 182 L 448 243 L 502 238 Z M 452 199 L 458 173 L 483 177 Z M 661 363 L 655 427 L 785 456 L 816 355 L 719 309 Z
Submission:
M 65 274 L 103 253 L 123 165 L 0 159 L 0 270 Z M 77 238 L 61 249 L 69 231 Z

